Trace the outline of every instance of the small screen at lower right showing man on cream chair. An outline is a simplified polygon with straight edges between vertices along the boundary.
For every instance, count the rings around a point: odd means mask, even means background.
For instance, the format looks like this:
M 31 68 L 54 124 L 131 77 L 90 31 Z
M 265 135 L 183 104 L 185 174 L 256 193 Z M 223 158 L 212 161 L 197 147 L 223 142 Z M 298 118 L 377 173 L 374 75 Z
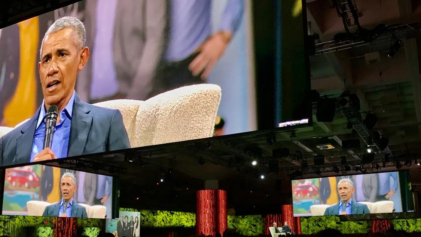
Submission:
M 292 180 L 294 216 L 408 211 L 408 177 L 394 171 Z

